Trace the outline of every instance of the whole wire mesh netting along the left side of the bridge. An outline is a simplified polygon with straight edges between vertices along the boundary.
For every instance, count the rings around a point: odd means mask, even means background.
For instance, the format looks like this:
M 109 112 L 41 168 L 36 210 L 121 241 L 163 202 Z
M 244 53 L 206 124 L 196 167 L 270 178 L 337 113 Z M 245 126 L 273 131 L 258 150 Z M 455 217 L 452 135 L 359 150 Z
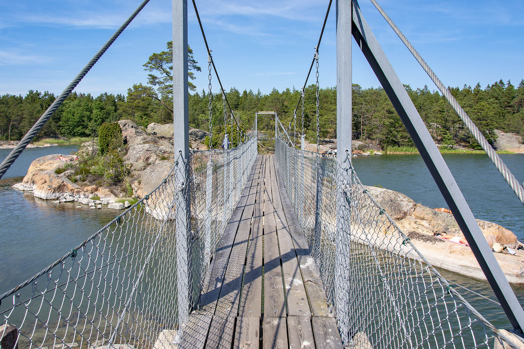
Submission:
M 161 348 L 173 342 L 256 153 L 253 137 L 230 150 L 192 151 L 149 195 L 0 296 L 0 348 Z M 184 189 L 177 171 L 189 173 L 187 245 L 176 239 L 177 193 Z M 183 302 L 180 289 L 191 291 Z

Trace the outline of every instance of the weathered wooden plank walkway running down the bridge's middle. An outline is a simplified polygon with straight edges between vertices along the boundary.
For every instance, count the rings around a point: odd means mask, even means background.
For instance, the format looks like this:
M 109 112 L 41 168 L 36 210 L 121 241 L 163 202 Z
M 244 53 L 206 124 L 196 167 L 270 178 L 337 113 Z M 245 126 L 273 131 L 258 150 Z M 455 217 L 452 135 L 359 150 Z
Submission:
M 258 155 L 180 348 L 342 348 L 272 155 Z

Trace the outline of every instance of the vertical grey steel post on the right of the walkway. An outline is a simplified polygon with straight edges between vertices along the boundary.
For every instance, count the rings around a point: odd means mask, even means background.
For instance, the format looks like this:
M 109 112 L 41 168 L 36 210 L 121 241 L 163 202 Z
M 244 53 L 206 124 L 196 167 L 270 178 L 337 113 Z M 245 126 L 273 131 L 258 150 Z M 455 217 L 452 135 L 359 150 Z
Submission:
M 335 236 L 335 308 L 343 343 L 348 343 L 350 331 L 350 207 L 344 190 L 351 179 L 352 137 L 352 58 L 351 58 L 351 1 L 336 0 L 336 157 L 337 166 L 336 236 Z M 347 194 L 346 194 L 347 195 Z

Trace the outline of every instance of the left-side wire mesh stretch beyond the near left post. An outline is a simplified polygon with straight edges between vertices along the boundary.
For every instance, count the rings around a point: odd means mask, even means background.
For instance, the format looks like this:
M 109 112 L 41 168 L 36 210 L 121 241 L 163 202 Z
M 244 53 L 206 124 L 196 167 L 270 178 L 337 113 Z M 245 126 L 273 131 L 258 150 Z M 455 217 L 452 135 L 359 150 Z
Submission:
M 257 154 L 256 138 L 229 150 L 191 152 L 192 302 L 231 218 Z

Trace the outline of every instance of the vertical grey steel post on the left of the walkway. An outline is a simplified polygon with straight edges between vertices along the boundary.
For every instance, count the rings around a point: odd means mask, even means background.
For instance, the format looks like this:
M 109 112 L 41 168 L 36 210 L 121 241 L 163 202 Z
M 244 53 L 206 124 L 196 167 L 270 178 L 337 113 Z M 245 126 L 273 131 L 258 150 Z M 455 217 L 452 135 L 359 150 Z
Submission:
M 173 139 L 176 165 L 177 296 L 179 328 L 192 306 L 191 205 L 189 185 L 188 3 L 173 0 Z M 180 335 L 180 333 L 179 333 Z

